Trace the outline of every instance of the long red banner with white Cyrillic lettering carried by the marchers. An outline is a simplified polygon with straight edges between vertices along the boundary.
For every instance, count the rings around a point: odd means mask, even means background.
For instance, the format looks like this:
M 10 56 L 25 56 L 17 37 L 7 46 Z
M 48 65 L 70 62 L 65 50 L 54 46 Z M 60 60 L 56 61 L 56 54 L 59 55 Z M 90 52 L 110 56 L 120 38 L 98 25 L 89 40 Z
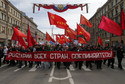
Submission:
M 6 56 L 6 60 L 50 62 L 90 61 L 110 58 L 113 58 L 112 51 L 39 51 L 29 53 L 10 51 Z

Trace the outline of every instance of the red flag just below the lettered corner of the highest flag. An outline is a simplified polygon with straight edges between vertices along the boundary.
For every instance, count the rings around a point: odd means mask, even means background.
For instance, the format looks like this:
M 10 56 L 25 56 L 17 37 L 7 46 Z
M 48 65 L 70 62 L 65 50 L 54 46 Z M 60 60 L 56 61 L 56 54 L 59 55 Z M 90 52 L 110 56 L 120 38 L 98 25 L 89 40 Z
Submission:
M 77 39 L 77 33 L 71 28 L 67 28 L 65 30 L 65 35 L 68 36 L 70 39 Z

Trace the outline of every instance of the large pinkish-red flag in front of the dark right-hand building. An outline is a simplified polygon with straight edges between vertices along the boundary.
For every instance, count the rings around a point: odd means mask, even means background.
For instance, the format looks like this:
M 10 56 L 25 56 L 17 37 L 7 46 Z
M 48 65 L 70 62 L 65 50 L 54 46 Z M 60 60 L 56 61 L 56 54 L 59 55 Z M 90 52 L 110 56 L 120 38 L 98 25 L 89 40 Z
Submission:
M 121 36 L 121 34 L 123 33 L 121 27 L 117 23 L 105 16 L 102 17 L 98 28 L 118 36 Z

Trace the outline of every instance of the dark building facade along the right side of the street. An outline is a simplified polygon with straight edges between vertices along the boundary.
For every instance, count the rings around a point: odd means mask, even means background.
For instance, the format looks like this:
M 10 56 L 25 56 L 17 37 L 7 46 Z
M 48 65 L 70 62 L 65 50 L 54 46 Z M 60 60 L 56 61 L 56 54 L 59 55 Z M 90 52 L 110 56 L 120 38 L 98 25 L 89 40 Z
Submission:
M 89 44 L 97 45 L 98 36 L 102 38 L 104 46 L 109 44 L 115 46 L 121 41 L 125 44 L 125 30 L 123 30 L 122 36 L 116 36 L 98 28 L 98 25 L 102 19 L 102 15 L 110 18 L 119 25 L 121 25 L 121 9 L 125 12 L 125 0 L 108 0 L 97 12 L 90 18 L 90 22 L 93 24 L 92 28 L 83 26 L 91 34 L 91 40 Z

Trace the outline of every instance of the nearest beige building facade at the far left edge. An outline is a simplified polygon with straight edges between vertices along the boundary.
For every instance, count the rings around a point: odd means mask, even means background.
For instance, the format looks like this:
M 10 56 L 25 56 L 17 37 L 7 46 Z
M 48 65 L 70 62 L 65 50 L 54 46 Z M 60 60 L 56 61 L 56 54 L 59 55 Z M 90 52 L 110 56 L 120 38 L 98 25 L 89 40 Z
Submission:
M 21 28 L 21 12 L 7 0 L 0 0 L 0 44 L 10 45 L 13 26 Z

